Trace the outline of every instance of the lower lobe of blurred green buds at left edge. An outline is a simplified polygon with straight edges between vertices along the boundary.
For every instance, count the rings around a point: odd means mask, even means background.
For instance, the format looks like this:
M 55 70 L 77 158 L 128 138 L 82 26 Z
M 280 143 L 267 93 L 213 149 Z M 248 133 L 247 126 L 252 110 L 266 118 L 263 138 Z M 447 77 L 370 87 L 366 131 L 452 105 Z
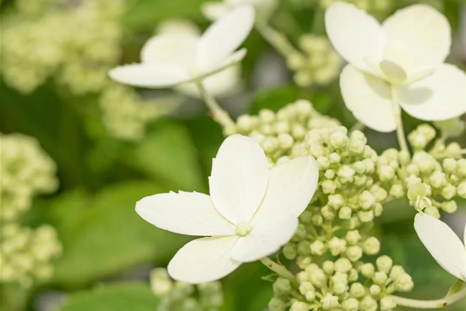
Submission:
M 62 251 L 54 227 L 41 225 L 31 229 L 12 222 L 3 224 L 0 233 L 0 282 L 17 282 L 27 287 L 52 276 L 50 261 Z

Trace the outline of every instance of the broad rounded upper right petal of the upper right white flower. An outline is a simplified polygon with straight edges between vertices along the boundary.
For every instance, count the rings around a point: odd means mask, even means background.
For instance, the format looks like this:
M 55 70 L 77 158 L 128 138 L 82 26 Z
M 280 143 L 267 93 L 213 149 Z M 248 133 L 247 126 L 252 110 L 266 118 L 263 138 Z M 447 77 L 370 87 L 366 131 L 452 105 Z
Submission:
M 448 19 L 431 6 L 417 4 L 398 10 L 382 27 L 389 41 L 409 51 L 414 68 L 435 67 L 450 53 Z

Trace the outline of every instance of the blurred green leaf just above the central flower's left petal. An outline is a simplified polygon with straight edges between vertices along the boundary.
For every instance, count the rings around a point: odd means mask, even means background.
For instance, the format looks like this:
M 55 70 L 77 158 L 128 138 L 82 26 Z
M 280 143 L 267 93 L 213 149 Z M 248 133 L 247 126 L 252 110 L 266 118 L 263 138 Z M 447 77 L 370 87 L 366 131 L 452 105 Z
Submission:
M 125 162 L 171 190 L 205 191 L 197 150 L 186 127 L 160 122 L 125 158 Z

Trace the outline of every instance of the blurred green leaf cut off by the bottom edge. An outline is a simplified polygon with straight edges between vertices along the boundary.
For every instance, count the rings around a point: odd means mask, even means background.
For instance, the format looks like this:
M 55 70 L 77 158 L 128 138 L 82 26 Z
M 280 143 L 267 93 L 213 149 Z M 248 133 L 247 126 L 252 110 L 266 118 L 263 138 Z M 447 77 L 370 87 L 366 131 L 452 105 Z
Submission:
M 158 298 L 147 283 L 120 283 L 99 286 L 71 295 L 59 311 L 153 311 Z

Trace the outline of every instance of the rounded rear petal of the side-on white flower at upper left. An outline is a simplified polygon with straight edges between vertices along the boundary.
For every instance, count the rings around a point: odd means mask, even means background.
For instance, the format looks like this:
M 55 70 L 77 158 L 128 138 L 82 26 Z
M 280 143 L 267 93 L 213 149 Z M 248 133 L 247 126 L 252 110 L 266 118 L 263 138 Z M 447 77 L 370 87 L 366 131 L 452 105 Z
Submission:
M 176 64 L 189 70 L 196 65 L 199 37 L 190 33 L 173 32 L 156 35 L 141 49 L 143 63 Z

